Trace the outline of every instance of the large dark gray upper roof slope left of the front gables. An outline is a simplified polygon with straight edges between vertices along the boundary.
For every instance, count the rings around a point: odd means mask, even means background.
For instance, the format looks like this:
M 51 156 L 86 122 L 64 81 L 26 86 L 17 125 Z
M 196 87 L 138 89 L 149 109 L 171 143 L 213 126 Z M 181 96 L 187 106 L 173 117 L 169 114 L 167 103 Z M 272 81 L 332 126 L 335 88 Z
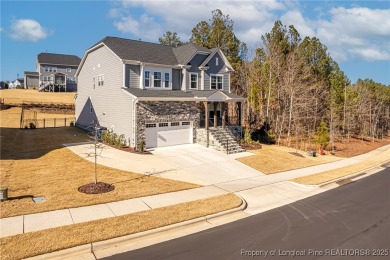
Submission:
M 121 59 L 163 65 L 178 64 L 172 47 L 168 45 L 109 36 L 101 40 L 101 42 L 107 45 Z

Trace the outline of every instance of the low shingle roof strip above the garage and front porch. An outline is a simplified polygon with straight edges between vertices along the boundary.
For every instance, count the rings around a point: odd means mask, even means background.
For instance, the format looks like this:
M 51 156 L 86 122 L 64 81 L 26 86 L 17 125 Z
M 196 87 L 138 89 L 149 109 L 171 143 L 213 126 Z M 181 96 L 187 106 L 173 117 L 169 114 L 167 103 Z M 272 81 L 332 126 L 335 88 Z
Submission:
M 182 90 L 163 90 L 163 89 L 139 89 L 139 88 L 126 88 L 127 92 L 136 96 L 137 98 L 183 98 L 183 99 L 207 99 L 216 92 L 222 92 L 231 99 L 243 99 L 243 97 L 236 94 L 228 93 L 221 90 L 194 90 L 194 91 L 182 91 Z

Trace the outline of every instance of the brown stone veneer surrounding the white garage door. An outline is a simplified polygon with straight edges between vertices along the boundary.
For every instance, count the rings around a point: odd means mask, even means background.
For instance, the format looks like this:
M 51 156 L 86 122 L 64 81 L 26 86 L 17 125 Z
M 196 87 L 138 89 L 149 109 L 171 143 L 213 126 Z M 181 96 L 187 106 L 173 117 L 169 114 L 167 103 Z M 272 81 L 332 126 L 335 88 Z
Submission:
M 137 143 L 146 139 L 146 123 L 193 121 L 194 143 L 200 110 L 193 101 L 142 101 L 137 103 Z

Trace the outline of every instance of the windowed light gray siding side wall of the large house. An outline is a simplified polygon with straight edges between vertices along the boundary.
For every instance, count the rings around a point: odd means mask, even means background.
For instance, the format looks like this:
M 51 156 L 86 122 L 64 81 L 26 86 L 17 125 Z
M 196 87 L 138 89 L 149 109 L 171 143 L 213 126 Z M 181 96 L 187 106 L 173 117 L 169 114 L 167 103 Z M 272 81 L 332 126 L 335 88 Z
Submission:
M 118 135 L 124 134 L 131 142 L 133 98 L 122 89 L 123 67 L 121 60 L 106 46 L 88 54 L 78 76 L 76 121 L 78 126 L 86 128 L 98 119 L 101 126 L 112 128 Z M 98 75 L 104 75 L 103 86 L 98 86 Z

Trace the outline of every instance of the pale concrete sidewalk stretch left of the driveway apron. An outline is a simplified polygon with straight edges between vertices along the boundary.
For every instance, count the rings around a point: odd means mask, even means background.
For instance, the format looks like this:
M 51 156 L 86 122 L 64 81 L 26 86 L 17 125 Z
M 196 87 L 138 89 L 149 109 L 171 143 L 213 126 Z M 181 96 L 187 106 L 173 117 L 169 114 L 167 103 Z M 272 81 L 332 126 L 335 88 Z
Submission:
M 140 211 L 190 202 L 229 192 L 213 186 L 170 192 L 79 208 L 61 209 L 0 219 L 0 237 L 111 218 Z

